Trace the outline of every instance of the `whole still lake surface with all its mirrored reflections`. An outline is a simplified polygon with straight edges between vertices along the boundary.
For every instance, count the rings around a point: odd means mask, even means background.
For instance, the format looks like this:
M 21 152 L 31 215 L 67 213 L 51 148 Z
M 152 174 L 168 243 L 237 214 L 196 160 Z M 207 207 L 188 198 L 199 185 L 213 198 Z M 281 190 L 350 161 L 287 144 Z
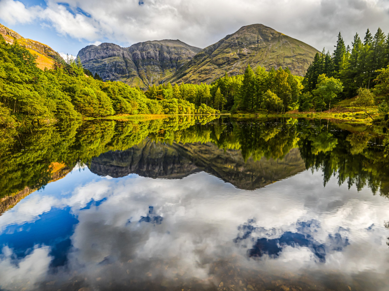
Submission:
M 2 131 L 1 290 L 389 290 L 389 136 L 185 117 Z

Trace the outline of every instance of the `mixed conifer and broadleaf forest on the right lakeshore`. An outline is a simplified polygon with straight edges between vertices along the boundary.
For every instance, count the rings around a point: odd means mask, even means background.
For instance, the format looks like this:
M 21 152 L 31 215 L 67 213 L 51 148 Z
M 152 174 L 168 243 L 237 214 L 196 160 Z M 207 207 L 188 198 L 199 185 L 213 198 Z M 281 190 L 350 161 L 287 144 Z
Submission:
M 331 104 L 354 98 L 356 107 L 378 105 L 389 112 L 389 35 L 380 28 L 374 36 L 368 29 L 361 40 L 354 36 L 352 47 L 345 46 L 339 33 L 333 54 L 317 53 L 304 77 L 288 68 L 266 70 L 247 67 L 243 75 L 219 78 L 212 84 L 161 84 L 149 86 L 150 99 L 175 98 L 221 112 L 258 111 L 285 113 L 290 110 L 323 111 Z

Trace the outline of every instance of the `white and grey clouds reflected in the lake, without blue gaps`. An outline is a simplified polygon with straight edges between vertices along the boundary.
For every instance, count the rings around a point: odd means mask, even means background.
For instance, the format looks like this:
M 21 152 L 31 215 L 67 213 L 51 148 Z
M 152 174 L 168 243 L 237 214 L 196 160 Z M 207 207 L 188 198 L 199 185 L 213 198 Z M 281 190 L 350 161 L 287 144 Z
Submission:
M 81 184 L 75 183 L 80 175 L 89 178 Z M 20 217 L 22 221 L 34 220 L 48 209 L 70 206 L 79 223 L 71 236 L 73 248 L 67 268 L 77 271 L 91 284 L 102 278 L 99 283 L 105 286 L 111 274 L 115 282 L 128 281 L 129 274 L 140 280 L 160 275 L 174 279 L 177 271 L 183 276 L 206 280 L 213 263 L 232 255 L 238 258 L 242 269 L 258 272 L 261 269 L 278 270 L 281 274 L 298 270 L 335 271 L 346 277 L 364 274 L 369 283 L 374 280 L 389 283 L 385 275 L 389 262 L 387 231 L 382 225 L 387 219 L 389 202 L 373 196 L 367 187 L 359 192 L 355 186 L 350 190 L 346 184 L 339 187 L 336 178 L 323 188 L 321 171 L 314 174 L 304 171 L 254 191 L 237 189 L 204 172 L 174 180 L 137 175 L 106 179 L 85 169 L 81 173 L 73 170 L 71 176 L 60 181 L 74 185 L 69 195 L 58 195 L 49 184 L 2 218 L 7 224 L 18 224 Z M 106 200 L 100 206 L 81 210 L 91 199 L 103 198 Z M 161 224 L 139 223 L 149 206 L 154 207 L 154 215 L 164 218 Z M 313 240 L 329 247 L 326 261 L 318 263 L 312 248 L 298 246 L 284 247 L 277 259 L 249 260 L 247 250 L 255 240 L 249 237 L 245 241 L 247 246 L 237 247 L 233 239 L 239 233 L 238 226 L 252 218 L 257 221 L 255 226 L 277 230 L 275 237 L 286 231 L 296 232 L 298 221 L 320 221 L 311 235 Z M 368 231 L 371 225 L 374 228 Z M 339 231 L 340 227 L 344 230 Z M 349 239 L 349 245 L 342 251 L 330 248 L 329 235 L 334 233 Z M 9 263 L 11 255 L 3 253 L 6 258 L 0 258 L 1 264 L 17 280 L 19 273 Z M 42 253 L 42 258 L 46 260 L 47 252 Z M 30 257 L 24 260 L 30 262 Z M 29 272 L 28 266 L 25 263 L 23 270 Z M 38 266 L 39 277 L 46 265 L 41 262 Z M 45 279 L 59 283 L 69 279 L 67 272 L 59 271 L 53 276 Z M 218 274 L 214 280 L 220 283 Z M 377 287 L 377 290 L 385 289 Z

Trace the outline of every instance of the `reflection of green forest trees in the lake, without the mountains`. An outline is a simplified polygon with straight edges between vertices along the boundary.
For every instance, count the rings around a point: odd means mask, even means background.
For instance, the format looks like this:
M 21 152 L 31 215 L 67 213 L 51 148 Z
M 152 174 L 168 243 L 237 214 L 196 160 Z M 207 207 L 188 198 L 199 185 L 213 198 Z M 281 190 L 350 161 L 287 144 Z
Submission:
M 8 196 L 25 187 L 39 189 L 55 179 L 55 165 L 63 164 L 69 170 L 77 164 L 90 165 L 94 157 L 109 151 L 125 151 L 149 138 L 167 145 L 211 142 L 224 152 L 239 151 L 245 162 L 262 158 L 282 161 L 298 148 L 306 169 L 323 172 L 324 185 L 337 179 L 339 185 L 356 185 L 359 190 L 368 186 L 373 193 L 389 197 L 389 153 L 382 146 L 389 142 L 389 135 L 383 133 L 385 128 L 374 126 L 350 132 L 339 130 L 328 121 L 273 121 L 277 122 L 189 115 L 150 121 L 91 120 L 3 129 L 0 166 L 4 179 L 0 181 L 0 192 Z

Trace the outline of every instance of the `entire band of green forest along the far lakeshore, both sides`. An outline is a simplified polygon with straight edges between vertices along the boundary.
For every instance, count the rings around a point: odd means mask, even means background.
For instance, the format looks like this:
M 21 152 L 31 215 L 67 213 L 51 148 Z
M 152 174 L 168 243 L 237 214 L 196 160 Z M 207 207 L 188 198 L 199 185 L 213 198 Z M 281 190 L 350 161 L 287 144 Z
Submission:
M 389 35 L 379 28 L 374 36 L 367 30 L 363 41 L 356 34 L 351 47 L 339 33 L 334 53 L 317 53 L 304 77 L 248 65 L 244 74 L 225 73 L 211 84 L 154 84 L 142 91 L 93 76 L 79 59 L 58 59 L 42 71 L 29 51 L 0 36 L 0 126 L 121 114 L 322 112 L 357 95 L 353 105 L 372 119 L 368 110 L 377 106 L 387 119 L 388 65 Z

